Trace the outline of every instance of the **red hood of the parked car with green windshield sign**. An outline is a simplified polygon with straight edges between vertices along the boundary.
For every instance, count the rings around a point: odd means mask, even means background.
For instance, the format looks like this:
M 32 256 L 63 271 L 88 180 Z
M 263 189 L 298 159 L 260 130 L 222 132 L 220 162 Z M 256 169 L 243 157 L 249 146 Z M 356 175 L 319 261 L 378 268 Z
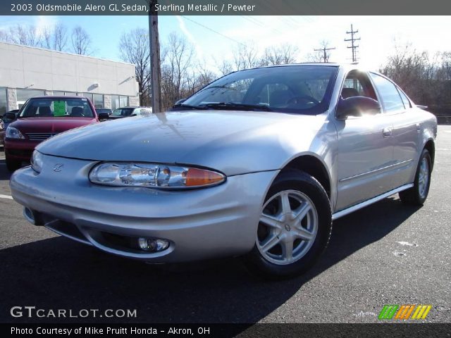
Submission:
M 95 118 L 20 118 L 11 123 L 20 132 L 66 132 L 76 127 L 96 123 Z

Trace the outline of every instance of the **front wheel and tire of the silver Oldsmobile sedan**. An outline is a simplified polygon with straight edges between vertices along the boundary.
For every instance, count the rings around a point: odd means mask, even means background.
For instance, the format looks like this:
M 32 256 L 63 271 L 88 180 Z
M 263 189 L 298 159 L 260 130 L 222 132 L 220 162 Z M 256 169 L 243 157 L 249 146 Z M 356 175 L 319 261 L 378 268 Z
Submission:
M 330 202 L 321 184 L 302 171 L 285 170 L 266 194 L 245 264 L 269 279 L 301 275 L 326 249 L 331 231 Z

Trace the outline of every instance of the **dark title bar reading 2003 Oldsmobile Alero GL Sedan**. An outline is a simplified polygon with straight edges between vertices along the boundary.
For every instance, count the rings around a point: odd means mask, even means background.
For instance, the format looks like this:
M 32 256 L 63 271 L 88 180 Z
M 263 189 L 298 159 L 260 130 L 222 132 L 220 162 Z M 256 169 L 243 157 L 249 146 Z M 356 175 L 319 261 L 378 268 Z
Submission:
M 450 15 L 444 0 L 2 0 L 1 15 Z M 152 6 L 150 5 L 152 4 Z M 421 18 L 419 18 L 421 24 Z

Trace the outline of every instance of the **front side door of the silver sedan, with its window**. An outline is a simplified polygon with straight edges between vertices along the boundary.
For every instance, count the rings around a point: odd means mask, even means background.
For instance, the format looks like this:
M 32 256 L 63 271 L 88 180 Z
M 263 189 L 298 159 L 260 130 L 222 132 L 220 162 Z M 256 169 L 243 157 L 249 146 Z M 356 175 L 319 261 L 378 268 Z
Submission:
M 369 75 L 352 70 L 341 89 L 342 99 L 367 96 L 379 101 Z M 338 199 L 336 211 L 388 192 L 393 164 L 393 124 L 383 112 L 336 120 L 338 131 Z

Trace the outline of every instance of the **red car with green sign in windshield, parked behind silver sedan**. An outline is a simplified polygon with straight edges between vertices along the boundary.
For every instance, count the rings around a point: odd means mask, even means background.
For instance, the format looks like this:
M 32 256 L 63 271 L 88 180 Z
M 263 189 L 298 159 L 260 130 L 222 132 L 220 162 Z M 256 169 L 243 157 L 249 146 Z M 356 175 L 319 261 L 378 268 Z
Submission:
M 9 114 L 9 113 L 6 113 Z M 30 161 L 35 146 L 60 132 L 98 123 L 91 101 L 81 96 L 39 96 L 29 99 L 5 132 L 6 167 L 10 171 Z M 108 115 L 108 114 L 107 114 Z

